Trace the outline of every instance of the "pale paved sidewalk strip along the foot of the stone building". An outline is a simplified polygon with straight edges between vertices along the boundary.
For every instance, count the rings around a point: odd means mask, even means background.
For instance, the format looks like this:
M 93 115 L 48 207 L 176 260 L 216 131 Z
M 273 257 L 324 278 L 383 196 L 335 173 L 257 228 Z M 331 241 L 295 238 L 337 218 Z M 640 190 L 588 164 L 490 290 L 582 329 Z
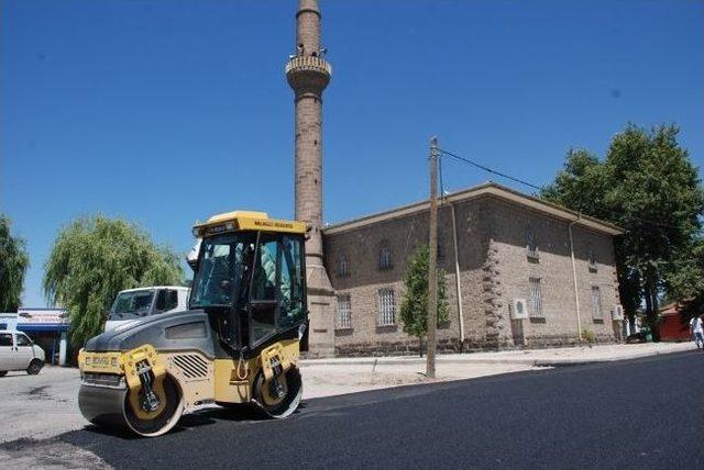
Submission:
M 598 345 L 553 349 L 525 349 L 488 352 L 466 352 L 439 355 L 438 363 L 474 363 L 474 365 L 522 365 L 537 367 L 571 366 L 592 362 L 610 362 L 615 360 L 637 359 L 662 354 L 694 350 L 694 343 L 644 343 L 635 345 Z M 384 356 L 307 359 L 304 369 L 310 366 L 342 365 L 411 365 L 425 363 L 425 358 L 417 356 Z

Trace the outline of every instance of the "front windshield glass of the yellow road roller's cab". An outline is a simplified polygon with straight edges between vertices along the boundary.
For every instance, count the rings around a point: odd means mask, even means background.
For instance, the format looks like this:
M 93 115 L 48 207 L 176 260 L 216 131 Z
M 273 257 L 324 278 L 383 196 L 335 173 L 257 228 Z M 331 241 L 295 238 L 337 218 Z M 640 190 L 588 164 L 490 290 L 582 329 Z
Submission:
M 244 292 L 242 280 L 250 276 L 254 258 L 254 234 L 222 234 L 205 238 L 194 279 L 190 306 L 231 305 Z

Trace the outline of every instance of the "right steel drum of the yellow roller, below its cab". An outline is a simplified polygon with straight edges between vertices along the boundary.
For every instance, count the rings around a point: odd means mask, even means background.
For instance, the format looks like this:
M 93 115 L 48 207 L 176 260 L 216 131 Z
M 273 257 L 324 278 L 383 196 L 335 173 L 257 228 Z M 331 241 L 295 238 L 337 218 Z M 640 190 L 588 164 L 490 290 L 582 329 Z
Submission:
M 302 391 L 300 372 L 295 367 L 270 382 L 264 381 L 262 372 L 254 380 L 254 401 L 270 417 L 284 418 L 294 413 Z

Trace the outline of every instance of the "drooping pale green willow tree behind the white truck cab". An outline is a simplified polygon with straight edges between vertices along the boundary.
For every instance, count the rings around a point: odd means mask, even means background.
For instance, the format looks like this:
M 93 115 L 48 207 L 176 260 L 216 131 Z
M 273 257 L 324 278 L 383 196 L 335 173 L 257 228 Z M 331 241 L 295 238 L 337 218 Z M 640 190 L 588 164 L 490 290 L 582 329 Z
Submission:
M 102 215 L 68 224 L 54 242 L 45 269 L 44 291 L 50 302 L 68 310 L 75 345 L 100 333 L 119 291 L 184 282 L 170 249 L 156 246 L 135 225 Z

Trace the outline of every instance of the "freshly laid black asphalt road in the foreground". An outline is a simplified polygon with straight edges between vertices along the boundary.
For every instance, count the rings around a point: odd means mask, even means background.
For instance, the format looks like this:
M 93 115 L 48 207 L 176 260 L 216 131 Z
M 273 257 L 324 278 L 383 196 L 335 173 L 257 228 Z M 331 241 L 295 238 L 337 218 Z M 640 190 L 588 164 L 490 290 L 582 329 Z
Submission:
M 118 468 L 704 468 L 704 354 L 220 410 L 138 439 L 65 434 Z

